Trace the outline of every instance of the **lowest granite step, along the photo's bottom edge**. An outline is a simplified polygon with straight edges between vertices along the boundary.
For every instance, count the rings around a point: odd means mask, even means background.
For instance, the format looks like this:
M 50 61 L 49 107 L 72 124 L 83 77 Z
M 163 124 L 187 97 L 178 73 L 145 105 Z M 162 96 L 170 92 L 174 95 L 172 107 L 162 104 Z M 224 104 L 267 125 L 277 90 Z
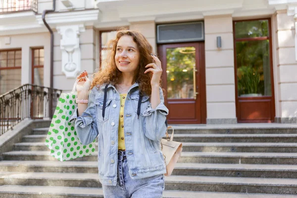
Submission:
M 101 188 L 4 185 L 1 198 L 103 198 Z M 295 195 L 165 190 L 163 198 L 296 198 Z

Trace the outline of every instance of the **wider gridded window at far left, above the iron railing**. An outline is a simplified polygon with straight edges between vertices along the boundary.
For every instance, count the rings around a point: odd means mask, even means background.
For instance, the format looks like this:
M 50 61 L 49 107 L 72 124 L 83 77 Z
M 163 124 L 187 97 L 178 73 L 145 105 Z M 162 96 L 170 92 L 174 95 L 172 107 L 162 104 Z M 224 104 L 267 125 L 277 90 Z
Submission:
M 21 49 L 0 51 L 0 95 L 21 86 Z

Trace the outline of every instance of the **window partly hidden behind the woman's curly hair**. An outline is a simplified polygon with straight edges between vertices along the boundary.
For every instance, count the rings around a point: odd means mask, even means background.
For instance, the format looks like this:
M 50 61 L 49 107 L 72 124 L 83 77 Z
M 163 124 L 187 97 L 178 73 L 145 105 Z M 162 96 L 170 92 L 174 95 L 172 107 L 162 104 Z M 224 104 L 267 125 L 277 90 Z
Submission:
M 101 69 L 103 69 L 106 66 L 106 58 L 107 53 L 110 48 L 108 48 L 107 43 L 115 39 L 117 31 L 106 31 L 106 32 L 100 32 L 100 66 Z

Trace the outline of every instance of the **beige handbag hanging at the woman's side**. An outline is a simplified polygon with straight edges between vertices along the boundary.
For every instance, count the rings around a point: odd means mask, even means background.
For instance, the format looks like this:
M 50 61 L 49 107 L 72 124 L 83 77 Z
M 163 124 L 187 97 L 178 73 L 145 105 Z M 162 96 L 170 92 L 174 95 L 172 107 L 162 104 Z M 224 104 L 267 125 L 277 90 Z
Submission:
M 168 129 L 172 128 L 172 134 L 169 139 L 169 135 L 167 133 Z M 183 150 L 183 145 L 180 142 L 174 142 L 173 140 L 173 134 L 174 134 L 174 129 L 172 126 L 168 126 L 166 130 L 166 140 L 161 139 L 161 149 L 163 152 L 163 157 L 165 160 L 166 164 L 166 174 L 165 176 L 170 176 L 174 166 L 178 160 L 178 158 L 181 156 L 182 150 Z

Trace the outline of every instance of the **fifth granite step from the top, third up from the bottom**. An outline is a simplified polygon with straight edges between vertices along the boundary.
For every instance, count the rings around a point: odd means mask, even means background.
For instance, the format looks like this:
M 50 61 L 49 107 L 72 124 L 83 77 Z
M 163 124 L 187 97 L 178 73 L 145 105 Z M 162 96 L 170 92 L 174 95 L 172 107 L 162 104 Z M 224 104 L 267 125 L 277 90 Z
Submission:
M 0 161 L 5 172 L 98 173 L 97 161 Z M 295 178 L 297 165 L 177 163 L 172 175 Z

